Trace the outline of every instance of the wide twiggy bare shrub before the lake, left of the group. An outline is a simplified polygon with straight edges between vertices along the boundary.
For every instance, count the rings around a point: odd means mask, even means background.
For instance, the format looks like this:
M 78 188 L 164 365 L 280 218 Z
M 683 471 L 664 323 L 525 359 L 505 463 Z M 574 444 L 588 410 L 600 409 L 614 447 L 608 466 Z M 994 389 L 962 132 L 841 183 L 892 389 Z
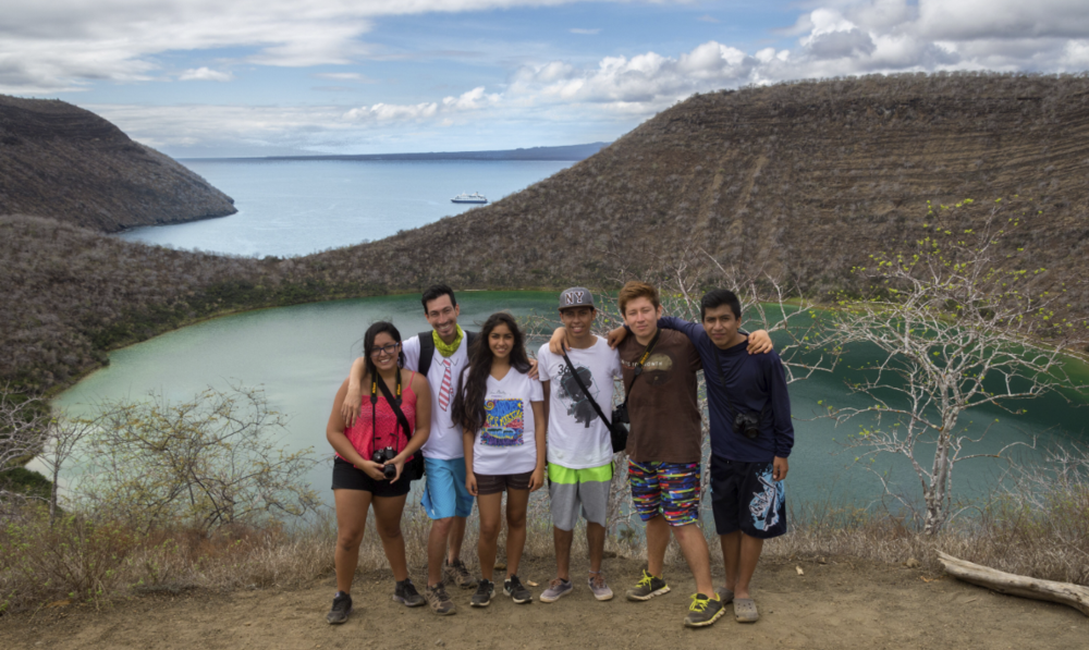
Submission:
M 259 390 L 208 389 L 182 404 L 162 395 L 111 402 L 94 424 L 77 489 L 94 512 L 135 527 L 208 530 L 319 507 L 304 482 L 311 450 L 280 446 L 284 418 Z

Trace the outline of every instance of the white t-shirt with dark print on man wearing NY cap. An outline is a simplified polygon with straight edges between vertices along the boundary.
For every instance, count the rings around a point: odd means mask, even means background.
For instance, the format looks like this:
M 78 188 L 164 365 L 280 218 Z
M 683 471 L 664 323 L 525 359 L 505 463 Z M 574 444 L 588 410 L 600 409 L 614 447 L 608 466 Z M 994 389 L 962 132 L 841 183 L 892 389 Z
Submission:
M 604 339 L 595 339 L 590 347 L 571 349 L 567 356 L 602 413 L 612 417 L 613 380 L 621 378 L 620 353 L 610 349 Z M 550 353 L 546 343 L 537 353 L 537 368 L 541 381 L 549 382 L 548 462 L 571 469 L 609 464 L 609 427 L 578 388 L 563 355 Z

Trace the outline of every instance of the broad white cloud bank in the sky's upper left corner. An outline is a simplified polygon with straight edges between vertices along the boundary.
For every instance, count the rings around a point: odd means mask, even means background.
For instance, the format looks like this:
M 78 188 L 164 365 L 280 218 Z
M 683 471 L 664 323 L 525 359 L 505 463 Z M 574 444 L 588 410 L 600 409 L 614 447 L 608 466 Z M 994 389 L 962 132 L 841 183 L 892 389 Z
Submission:
M 155 78 L 157 54 L 250 48 L 252 63 L 345 64 L 369 56 L 376 19 L 543 7 L 579 0 L 8 0 L 0 10 L 0 93 L 76 90 Z

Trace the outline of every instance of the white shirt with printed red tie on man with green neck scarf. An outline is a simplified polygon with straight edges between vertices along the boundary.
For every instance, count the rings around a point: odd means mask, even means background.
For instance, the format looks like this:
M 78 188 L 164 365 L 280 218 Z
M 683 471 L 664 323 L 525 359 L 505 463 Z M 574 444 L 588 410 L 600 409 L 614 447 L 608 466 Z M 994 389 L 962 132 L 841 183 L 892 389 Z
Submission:
M 457 351 L 450 357 L 444 357 L 436 349 L 431 355 L 431 367 L 427 370 L 427 382 L 431 385 L 431 433 L 424 443 L 424 456 L 439 461 L 451 461 L 465 457 L 462 442 L 462 428 L 454 425 L 451 413 L 454 409 L 454 392 L 457 390 L 457 377 L 469 360 L 468 336 L 462 338 Z M 406 339 L 401 343 L 405 353 L 405 368 L 419 368 L 419 336 Z

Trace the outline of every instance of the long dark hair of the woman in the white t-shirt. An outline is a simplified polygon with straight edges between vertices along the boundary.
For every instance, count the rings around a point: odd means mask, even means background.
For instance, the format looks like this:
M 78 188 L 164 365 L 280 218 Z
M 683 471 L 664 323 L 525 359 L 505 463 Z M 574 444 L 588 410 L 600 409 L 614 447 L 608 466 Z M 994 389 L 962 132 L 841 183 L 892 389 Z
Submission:
M 480 335 L 469 347 L 468 368 L 462 369 L 461 378 L 457 380 L 457 391 L 454 394 L 454 409 L 451 414 L 453 420 L 462 426 L 464 431 L 476 433 L 484 428 L 486 421 L 484 412 L 484 397 L 488 392 L 488 376 L 491 373 L 491 363 L 494 355 L 488 339 L 491 331 L 500 323 L 510 328 L 514 334 L 514 345 L 511 346 L 511 368 L 525 375 L 529 372 L 529 357 L 526 356 L 526 341 L 518 329 L 518 323 L 514 317 L 505 311 L 492 314 L 488 320 L 484 321 L 480 328 Z M 467 375 L 466 375 L 466 371 Z

